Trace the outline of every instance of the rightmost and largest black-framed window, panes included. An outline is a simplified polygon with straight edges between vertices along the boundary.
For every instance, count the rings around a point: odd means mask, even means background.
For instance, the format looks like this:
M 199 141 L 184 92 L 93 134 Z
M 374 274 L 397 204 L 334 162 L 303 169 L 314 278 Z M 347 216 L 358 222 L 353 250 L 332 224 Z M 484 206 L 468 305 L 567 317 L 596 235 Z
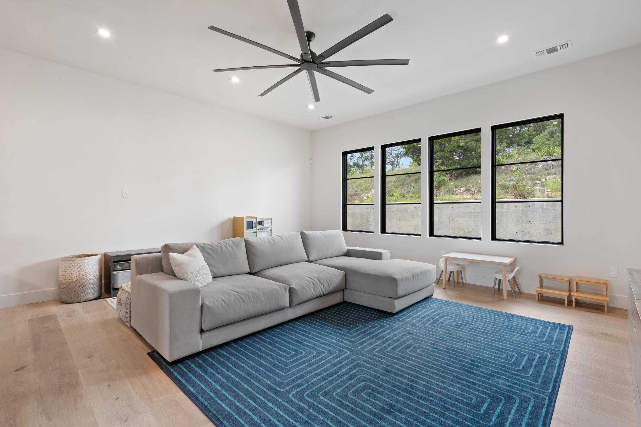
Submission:
M 492 126 L 492 240 L 563 244 L 563 115 Z

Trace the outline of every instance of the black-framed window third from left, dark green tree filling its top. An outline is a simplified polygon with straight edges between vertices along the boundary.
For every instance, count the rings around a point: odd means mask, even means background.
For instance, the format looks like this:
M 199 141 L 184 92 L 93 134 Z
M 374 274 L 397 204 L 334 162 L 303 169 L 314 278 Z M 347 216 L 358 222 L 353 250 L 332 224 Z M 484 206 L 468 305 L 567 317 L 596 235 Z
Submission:
M 429 236 L 481 238 L 481 129 L 429 138 Z

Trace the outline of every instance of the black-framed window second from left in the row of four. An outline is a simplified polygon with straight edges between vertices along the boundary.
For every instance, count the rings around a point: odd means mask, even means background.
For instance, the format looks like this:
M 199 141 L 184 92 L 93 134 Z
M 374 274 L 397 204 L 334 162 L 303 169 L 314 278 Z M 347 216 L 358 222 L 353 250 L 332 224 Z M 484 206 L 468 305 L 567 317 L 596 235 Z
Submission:
M 381 146 L 381 233 L 420 236 L 420 140 Z

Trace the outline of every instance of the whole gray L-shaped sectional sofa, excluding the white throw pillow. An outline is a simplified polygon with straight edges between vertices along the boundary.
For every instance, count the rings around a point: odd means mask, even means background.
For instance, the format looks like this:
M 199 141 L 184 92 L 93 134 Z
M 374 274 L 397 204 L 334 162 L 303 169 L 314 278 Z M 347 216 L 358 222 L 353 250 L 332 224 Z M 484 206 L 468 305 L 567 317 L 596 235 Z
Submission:
M 194 245 L 212 273 L 201 288 L 169 262 Z M 131 259 L 131 325 L 172 362 L 342 301 L 395 313 L 431 296 L 435 279 L 431 264 L 347 247 L 340 230 L 167 243 Z

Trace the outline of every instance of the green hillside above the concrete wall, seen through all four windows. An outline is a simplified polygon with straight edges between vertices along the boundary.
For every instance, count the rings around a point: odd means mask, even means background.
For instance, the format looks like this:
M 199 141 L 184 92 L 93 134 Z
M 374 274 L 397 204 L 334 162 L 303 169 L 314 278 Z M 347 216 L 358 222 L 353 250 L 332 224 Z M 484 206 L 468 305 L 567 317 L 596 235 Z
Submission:
M 562 195 L 561 120 L 497 129 L 497 199 L 556 198 Z M 434 200 L 481 200 L 481 134 L 433 141 Z M 420 202 L 420 143 L 388 147 L 385 197 L 392 202 Z M 522 163 L 529 162 L 529 163 Z M 515 164 L 520 163 L 520 164 Z M 374 202 L 374 152 L 347 156 L 348 203 Z

